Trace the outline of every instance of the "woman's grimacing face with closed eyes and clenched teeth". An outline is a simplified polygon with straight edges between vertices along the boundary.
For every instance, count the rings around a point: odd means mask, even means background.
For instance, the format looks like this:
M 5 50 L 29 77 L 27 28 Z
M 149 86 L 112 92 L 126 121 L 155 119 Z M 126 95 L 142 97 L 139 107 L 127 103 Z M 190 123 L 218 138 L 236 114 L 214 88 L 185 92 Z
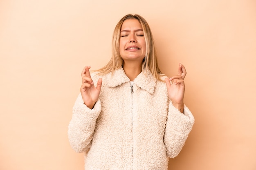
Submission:
M 146 41 L 141 24 L 137 19 L 123 22 L 120 31 L 119 53 L 124 62 L 134 60 L 142 62 L 146 55 Z

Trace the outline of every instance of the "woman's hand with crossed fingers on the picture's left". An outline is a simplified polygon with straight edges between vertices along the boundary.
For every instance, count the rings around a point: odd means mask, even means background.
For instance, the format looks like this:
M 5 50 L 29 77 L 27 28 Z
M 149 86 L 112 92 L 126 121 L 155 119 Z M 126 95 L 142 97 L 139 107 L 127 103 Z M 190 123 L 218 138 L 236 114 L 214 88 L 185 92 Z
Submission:
M 101 92 L 101 84 L 102 84 L 102 79 L 99 78 L 97 82 L 97 87 L 94 86 L 92 77 L 90 75 L 90 66 L 85 66 L 83 68 L 83 71 L 81 73 L 82 76 L 82 86 L 80 88 L 80 92 L 83 98 L 84 104 L 92 109 L 94 104 L 97 102 L 99 99 L 99 93 Z

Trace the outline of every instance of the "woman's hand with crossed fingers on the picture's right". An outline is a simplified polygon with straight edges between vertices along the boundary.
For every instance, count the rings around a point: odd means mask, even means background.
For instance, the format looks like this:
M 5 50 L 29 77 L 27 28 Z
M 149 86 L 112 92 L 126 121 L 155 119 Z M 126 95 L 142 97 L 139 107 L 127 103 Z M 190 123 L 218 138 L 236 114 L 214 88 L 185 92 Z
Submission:
M 178 75 L 174 75 L 171 78 L 165 78 L 168 97 L 171 99 L 173 106 L 175 106 L 180 112 L 183 113 L 184 109 L 184 93 L 185 93 L 185 84 L 184 78 L 186 76 L 186 69 L 182 64 L 179 64 Z

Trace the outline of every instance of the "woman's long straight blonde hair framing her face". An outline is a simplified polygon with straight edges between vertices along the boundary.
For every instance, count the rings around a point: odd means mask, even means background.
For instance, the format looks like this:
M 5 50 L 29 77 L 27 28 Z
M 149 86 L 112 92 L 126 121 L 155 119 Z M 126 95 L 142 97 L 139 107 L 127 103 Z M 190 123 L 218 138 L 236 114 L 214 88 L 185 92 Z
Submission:
M 119 40 L 120 40 L 120 31 L 121 26 L 125 20 L 128 19 L 137 19 L 139 23 L 142 26 L 143 32 L 144 32 L 144 38 L 146 41 L 146 55 L 142 63 L 142 70 L 147 71 L 148 69 L 153 74 L 153 76 L 162 81 L 160 79 L 162 72 L 160 71 L 157 63 L 157 53 L 155 50 L 155 44 L 153 40 L 153 35 L 151 33 L 150 27 L 146 20 L 141 17 L 140 15 L 132 15 L 128 14 L 125 15 L 121 20 L 117 23 L 114 33 L 113 33 L 113 39 L 112 39 L 112 57 L 108 64 L 99 70 L 99 74 L 106 74 L 110 72 L 114 72 L 115 70 L 119 69 L 124 64 L 124 60 L 122 59 L 120 53 L 119 53 Z

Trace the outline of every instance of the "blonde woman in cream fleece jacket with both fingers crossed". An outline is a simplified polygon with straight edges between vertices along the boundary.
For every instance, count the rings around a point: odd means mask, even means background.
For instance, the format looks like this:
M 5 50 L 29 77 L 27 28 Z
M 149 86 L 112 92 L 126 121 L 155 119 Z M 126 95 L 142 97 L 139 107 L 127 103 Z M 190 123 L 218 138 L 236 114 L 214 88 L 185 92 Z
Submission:
M 92 76 L 82 71 L 68 136 L 85 152 L 85 170 L 167 170 L 194 118 L 184 105 L 186 70 L 170 79 L 158 68 L 150 28 L 140 15 L 115 27 L 112 58 Z M 94 86 L 94 82 L 97 82 Z

